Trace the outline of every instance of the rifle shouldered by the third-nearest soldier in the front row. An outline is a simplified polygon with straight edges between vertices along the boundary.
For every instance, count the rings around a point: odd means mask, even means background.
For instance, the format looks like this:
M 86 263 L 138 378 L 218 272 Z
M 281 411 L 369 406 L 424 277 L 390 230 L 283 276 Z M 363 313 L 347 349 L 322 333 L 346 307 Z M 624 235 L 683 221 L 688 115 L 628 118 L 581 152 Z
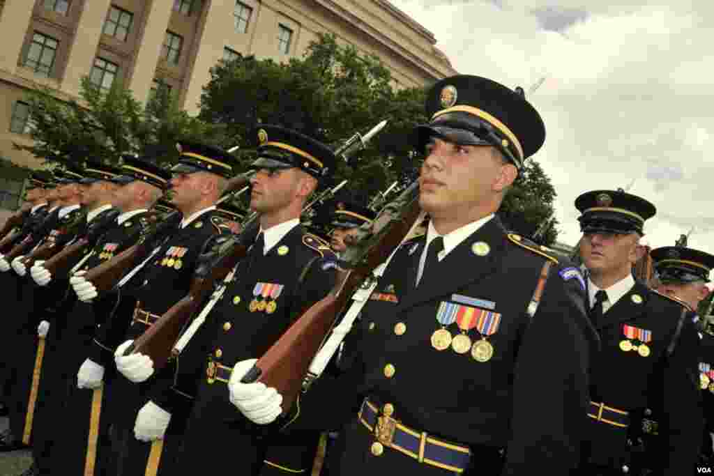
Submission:
M 223 197 L 216 204 L 223 203 L 223 201 L 231 198 L 233 192 L 246 186 L 253 175 L 255 175 L 254 171 L 248 171 L 231 178 L 228 181 Z M 146 258 L 149 258 L 151 252 L 161 246 L 164 240 L 174 231 L 174 228 L 178 226 L 178 223 L 181 223 L 181 212 L 174 211 L 169 213 L 162 221 L 157 222 L 154 227 L 147 228 L 139 238 L 139 243 L 126 248 L 111 260 L 91 268 L 84 275 L 84 279 L 94 285 L 97 293 L 106 293 L 106 291 L 114 288 L 116 283 L 119 283 L 121 277 L 128 273 L 129 270 L 136 268 Z

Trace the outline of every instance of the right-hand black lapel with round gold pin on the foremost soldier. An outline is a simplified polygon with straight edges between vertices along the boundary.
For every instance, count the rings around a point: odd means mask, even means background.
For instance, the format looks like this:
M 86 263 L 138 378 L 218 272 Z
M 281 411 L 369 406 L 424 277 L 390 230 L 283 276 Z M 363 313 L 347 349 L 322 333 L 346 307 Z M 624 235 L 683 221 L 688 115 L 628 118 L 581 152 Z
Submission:
M 490 248 L 485 256 L 472 250 L 474 243 L 486 243 Z M 483 248 L 483 246 L 482 246 Z M 439 262 L 437 271 L 423 275 L 418 288 L 414 288 L 416 268 L 413 271 L 410 288 L 400 303 L 400 311 L 421 303 L 426 303 L 443 295 L 451 294 L 469 283 L 486 278 L 497 270 L 506 249 L 506 229 L 494 217 L 456 246 L 446 258 Z M 417 253 L 415 253 L 416 255 Z M 419 258 L 416 258 L 418 266 Z

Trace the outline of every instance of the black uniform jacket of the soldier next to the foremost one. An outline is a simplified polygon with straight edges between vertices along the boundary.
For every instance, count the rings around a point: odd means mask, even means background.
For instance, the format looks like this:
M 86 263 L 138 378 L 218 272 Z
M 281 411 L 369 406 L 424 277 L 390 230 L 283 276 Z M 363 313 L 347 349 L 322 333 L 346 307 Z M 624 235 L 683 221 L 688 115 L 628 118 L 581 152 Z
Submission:
M 226 375 L 219 375 L 218 380 L 210 374 L 218 365 L 224 372 L 241 360 L 263 355 L 302 310 L 331 290 L 334 260 L 328 247 L 295 226 L 266 255 L 253 247 L 239 263 L 223 298 L 178 359 L 171 388 L 159 387 L 151 394 L 151 400 L 166 409 L 195 399 L 181 455 L 171 474 L 198 472 L 210 461 L 211 457 L 206 459 L 209 454 L 221 459 L 216 464 L 231 474 L 308 474 L 318 432 L 299 438 L 258 435 L 260 429 L 229 401 Z M 266 285 L 271 285 L 271 298 L 261 295 Z M 251 312 L 256 306 L 251 303 L 260 300 L 266 307 Z

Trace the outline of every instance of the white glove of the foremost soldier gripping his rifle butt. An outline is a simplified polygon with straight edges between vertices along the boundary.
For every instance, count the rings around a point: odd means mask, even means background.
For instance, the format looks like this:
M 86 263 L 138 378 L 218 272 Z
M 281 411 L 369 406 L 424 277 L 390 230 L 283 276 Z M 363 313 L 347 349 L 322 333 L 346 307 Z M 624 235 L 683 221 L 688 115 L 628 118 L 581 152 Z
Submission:
M 228 393 L 231 403 L 236 405 L 248 420 L 258 425 L 268 425 L 283 411 L 280 406 L 283 395 L 275 388 L 266 387 L 264 383 L 241 383 L 241 378 L 245 377 L 256 362 L 257 359 L 241 360 L 233 367 L 231 379 L 228 380 Z

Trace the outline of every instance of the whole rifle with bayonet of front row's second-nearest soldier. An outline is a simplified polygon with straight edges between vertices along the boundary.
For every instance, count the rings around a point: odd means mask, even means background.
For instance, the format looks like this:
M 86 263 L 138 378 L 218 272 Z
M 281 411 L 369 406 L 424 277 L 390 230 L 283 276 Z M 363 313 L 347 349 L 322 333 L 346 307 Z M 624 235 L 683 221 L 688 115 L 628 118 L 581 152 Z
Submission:
M 344 145 L 335 151 L 336 156 L 341 156 L 348 160 L 348 156 L 364 147 L 366 141 L 374 136 L 381 128 L 384 127 L 386 121 L 382 121 L 377 126 L 373 127 L 364 138 L 356 133 Z M 328 189 L 321 193 L 318 198 L 308 203 L 302 210 L 306 213 L 316 203 L 323 203 L 331 196 L 334 196 L 336 191 L 342 188 L 347 181 L 342 181 L 335 188 Z M 216 243 L 209 246 L 207 253 L 201 253 L 201 264 L 196 268 L 194 278 L 191 283 L 191 289 L 188 295 L 181 298 L 178 303 L 174 304 L 166 311 L 161 318 L 151 325 L 149 329 L 144 331 L 142 335 L 134 340 L 129 348 L 126 348 L 124 355 L 131 353 L 142 353 L 149 355 L 154 362 L 154 370 L 159 370 L 166 365 L 166 362 L 171 358 L 171 355 L 178 355 L 181 349 L 174 348 L 174 344 L 181 337 L 181 333 L 186 327 L 186 323 L 191 319 L 194 313 L 208 295 L 213 290 L 213 283 L 223 278 L 231 272 L 233 268 L 246 257 L 248 247 L 251 245 L 258 234 L 258 213 L 253 212 L 249 215 L 241 225 L 241 234 L 238 237 L 218 237 Z M 203 313 L 202 313 L 203 314 Z M 198 320 L 196 325 L 192 325 L 191 334 L 181 339 L 185 341 L 183 345 L 188 343 L 193 333 L 198 330 L 198 326 L 203 323 L 203 320 Z M 189 333 L 189 330 L 186 330 Z M 172 350 L 173 348 L 173 350 Z

